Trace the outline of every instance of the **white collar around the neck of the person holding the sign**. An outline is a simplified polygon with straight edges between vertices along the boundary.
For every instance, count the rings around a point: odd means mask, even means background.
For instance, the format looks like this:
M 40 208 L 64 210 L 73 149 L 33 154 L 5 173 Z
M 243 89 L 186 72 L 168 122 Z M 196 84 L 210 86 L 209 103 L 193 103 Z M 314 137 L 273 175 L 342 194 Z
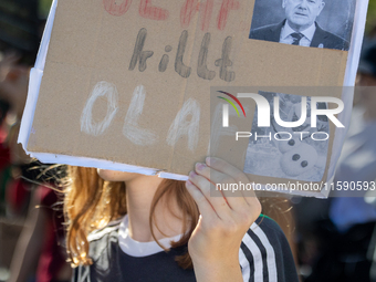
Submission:
M 132 257 L 147 257 L 158 252 L 164 251 L 156 241 L 152 242 L 138 242 L 130 238 L 129 229 L 128 229 L 128 216 L 126 215 L 123 218 L 121 227 L 118 229 L 118 244 L 123 252 Z M 171 238 L 164 238 L 159 240 L 159 243 L 166 248 L 170 248 L 171 241 L 179 241 L 181 239 L 181 234 L 171 237 Z

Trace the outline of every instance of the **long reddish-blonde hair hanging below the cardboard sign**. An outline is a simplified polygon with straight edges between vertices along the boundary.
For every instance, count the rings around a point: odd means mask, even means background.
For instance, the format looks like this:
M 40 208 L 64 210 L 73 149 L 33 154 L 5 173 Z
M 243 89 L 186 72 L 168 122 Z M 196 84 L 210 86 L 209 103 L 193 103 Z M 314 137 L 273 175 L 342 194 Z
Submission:
M 127 213 L 126 187 L 124 182 L 103 180 L 95 168 L 70 167 L 69 178 L 71 181 L 65 188 L 64 198 L 67 254 L 74 267 L 91 264 L 87 234 Z M 184 181 L 168 179 L 161 181 L 154 196 L 149 215 L 149 226 L 156 242 L 158 240 L 155 238 L 153 226 L 155 222 L 155 209 L 161 199 L 166 199 L 166 202 L 175 200 L 181 209 L 181 232 L 184 236 L 179 241 L 174 242 L 171 247 L 186 244 L 199 218 L 195 200 L 186 190 Z M 177 257 L 176 260 L 184 269 L 192 267 L 188 252 Z

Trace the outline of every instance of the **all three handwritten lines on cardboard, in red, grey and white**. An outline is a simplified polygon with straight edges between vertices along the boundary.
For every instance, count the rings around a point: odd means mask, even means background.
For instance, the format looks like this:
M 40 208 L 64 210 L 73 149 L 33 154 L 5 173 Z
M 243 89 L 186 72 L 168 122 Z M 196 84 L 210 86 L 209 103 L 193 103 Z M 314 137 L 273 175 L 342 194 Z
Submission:
M 224 30 L 230 11 L 239 10 L 239 1 L 236 0 L 184 0 L 180 9 L 180 25 L 182 32 L 179 38 L 179 42 L 176 46 L 175 56 L 175 72 L 184 79 L 188 79 L 191 75 L 192 67 L 184 63 L 184 56 L 188 43 L 188 30 L 186 30 L 195 14 L 199 12 L 200 29 L 207 31 L 210 25 L 210 21 L 215 13 L 215 1 L 221 1 L 220 9 L 216 21 L 216 28 L 218 30 Z M 103 0 L 104 9 L 112 15 L 126 17 L 126 12 L 129 10 L 133 0 Z M 169 17 L 167 9 L 156 7 L 152 4 L 152 0 L 139 0 L 138 13 L 140 17 L 149 20 L 165 21 Z M 200 51 L 197 63 L 197 75 L 200 79 L 211 81 L 216 77 L 216 71 L 210 70 L 207 64 L 207 58 L 209 54 L 211 34 L 206 32 L 200 44 Z M 231 82 L 236 77 L 236 73 L 229 70 L 232 66 L 230 60 L 232 38 L 227 36 L 222 44 L 221 58 L 215 61 L 215 65 L 219 67 L 219 79 Z M 129 71 L 134 71 L 138 65 L 138 71 L 144 72 L 147 69 L 147 60 L 154 55 L 154 51 L 149 50 L 147 45 L 147 30 L 142 28 L 138 31 L 135 48 L 132 59 L 129 61 Z M 171 45 L 165 46 L 165 53 L 159 62 L 158 71 L 165 72 L 169 64 L 169 52 L 173 51 Z M 94 103 L 98 97 L 107 98 L 107 114 L 105 118 L 96 123 L 92 117 L 92 111 Z M 138 146 L 150 146 L 156 144 L 159 136 L 156 132 L 147 128 L 142 128 L 138 125 L 138 118 L 143 114 L 144 102 L 146 98 L 146 91 L 143 85 L 135 88 L 128 112 L 124 119 L 123 135 L 132 143 Z M 111 125 L 118 109 L 118 92 L 114 84 L 102 81 L 98 82 L 81 116 L 81 130 L 93 136 L 102 135 Z M 191 116 L 191 118 L 189 118 Z M 185 121 L 185 123 L 181 123 Z M 180 111 L 177 113 L 176 118 L 173 121 L 166 142 L 169 146 L 175 146 L 175 143 L 180 136 L 187 135 L 188 149 L 194 152 L 198 145 L 199 137 L 199 121 L 200 121 L 200 105 L 197 100 L 189 98 L 185 102 Z

